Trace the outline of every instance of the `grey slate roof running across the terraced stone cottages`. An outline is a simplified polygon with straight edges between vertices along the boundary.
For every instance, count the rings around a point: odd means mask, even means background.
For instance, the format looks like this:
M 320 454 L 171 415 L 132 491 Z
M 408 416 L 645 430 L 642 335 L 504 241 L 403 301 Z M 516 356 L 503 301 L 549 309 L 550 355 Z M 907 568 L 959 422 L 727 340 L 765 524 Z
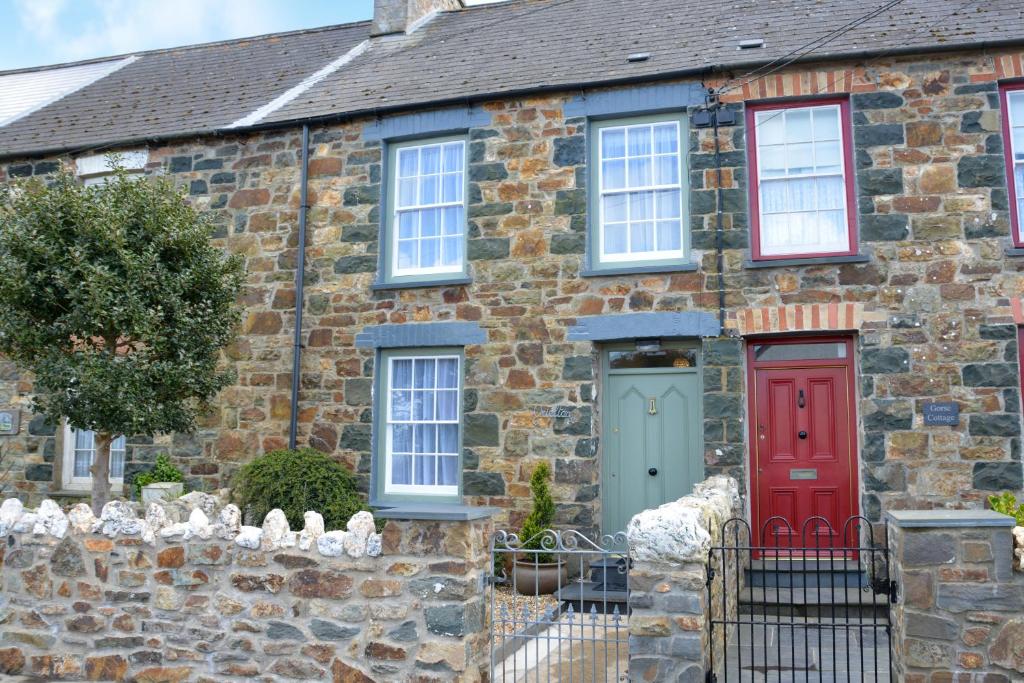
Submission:
M 369 48 L 255 127 L 785 57 L 885 0 L 508 0 L 442 12 Z M 1024 43 L 1022 0 L 902 0 L 805 60 Z M 0 157 L 225 130 L 369 38 L 369 23 L 140 53 L 0 127 Z M 761 38 L 763 48 L 739 50 Z M 627 55 L 649 52 L 646 61 Z M 28 70 L 32 71 L 32 70 Z M 0 73 L 0 80 L 5 74 Z

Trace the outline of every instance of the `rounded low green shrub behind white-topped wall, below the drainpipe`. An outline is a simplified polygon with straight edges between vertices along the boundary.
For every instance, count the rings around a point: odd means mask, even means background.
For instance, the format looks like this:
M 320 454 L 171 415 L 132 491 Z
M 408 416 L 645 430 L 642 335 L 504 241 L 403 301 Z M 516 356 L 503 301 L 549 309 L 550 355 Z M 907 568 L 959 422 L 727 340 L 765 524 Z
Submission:
M 234 476 L 231 497 L 246 522 L 262 524 L 270 510 L 281 508 L 294 529 L 303 514 L 324 515 L 328 529 L 345 528 L 359 510 L 369 510 L 352 473 L 319 451 L 271 451 L 245 465 Z

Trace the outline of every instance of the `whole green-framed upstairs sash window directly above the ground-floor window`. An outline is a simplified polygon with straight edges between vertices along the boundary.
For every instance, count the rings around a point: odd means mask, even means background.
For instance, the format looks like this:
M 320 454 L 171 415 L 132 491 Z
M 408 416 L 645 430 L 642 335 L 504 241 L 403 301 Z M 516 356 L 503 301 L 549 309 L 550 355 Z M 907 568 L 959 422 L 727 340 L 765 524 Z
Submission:
M 387 145 L 381 273 L 387 285 L 467 275 L 466 135 Z

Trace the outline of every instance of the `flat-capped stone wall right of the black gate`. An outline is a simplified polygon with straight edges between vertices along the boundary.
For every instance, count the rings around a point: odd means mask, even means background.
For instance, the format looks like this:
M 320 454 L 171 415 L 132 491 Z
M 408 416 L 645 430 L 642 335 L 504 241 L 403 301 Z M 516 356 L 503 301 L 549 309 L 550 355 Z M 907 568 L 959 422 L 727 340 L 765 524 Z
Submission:
M 1012 566 L 1013 519 L 990 511 L 889 516 L 899 587 L 893 607 L 898 680 L 1021 680 L 1024 573 Z

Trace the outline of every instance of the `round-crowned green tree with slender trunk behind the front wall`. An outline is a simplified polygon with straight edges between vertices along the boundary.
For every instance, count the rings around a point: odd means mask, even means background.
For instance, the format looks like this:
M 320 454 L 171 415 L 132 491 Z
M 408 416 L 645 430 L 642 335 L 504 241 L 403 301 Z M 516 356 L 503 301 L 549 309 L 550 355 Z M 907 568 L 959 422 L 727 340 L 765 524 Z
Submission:
M 168 179 L 119 167 L 0 189 L 0 352 L 34 375 L 34 411 L 95 432 L 97 513 L 113 439 L 189 432 L 233 381 L 219 357 L 244 269 L 213 229 Z

